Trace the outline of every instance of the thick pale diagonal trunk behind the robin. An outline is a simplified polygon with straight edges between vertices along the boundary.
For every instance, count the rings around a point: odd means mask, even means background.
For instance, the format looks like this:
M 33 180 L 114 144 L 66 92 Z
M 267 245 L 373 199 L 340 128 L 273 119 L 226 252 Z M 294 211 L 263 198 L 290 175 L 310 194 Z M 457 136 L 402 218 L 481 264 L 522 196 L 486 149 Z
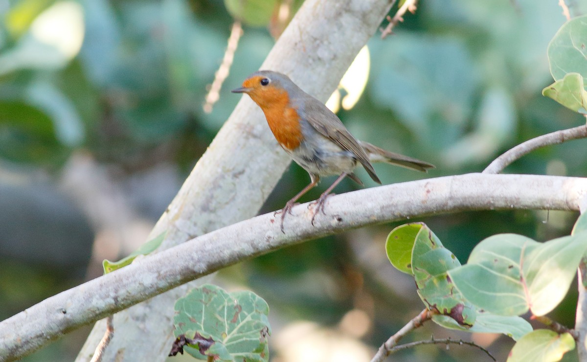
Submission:
M 325 102 L 377 31 L 391 2 L 304 1 L 262 69 L 289 75 L 296 84 L 303 84 L 306 92 Z M 248 97 L 242 97 L 147 240 L 166 231 L 161 251 L 255 216 L 289 163 L 291 158 L 276 143 L 262 111 Z M 166 360 L 168 346 L 175 339 L 170 320 L 173 305 L 195 283 L 117 313 L 116 336 L 104 360 L 115 360 L 122 353 L 137 361 Z M 87 356 L 92 356 L 103 334 L 104 322 L 100 321 L 77 362 L 89 361 Z

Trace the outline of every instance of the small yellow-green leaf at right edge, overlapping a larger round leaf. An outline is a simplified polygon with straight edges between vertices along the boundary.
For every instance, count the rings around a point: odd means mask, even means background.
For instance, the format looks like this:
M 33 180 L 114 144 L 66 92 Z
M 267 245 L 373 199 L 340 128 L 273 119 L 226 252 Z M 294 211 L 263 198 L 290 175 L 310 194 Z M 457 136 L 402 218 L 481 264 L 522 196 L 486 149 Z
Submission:
M 587 114 L 587 92 L 579 73 L 568 73 L 542 90 L 542 95 L 581 114 Z

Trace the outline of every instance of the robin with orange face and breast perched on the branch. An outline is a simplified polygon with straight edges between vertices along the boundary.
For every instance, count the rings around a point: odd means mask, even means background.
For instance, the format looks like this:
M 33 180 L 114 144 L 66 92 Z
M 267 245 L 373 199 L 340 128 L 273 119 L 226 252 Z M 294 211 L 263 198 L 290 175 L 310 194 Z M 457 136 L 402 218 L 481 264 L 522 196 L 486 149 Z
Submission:
M 257 103 L 279 145 L 310 175 L 308 186 L 290 199 L 281 212 L 284 219 L 291 214 L 295 202 L 318 185 L 321 177 L 338 178 L 315 201 L 312 225 L 316 215 L 324 211 L 330 192 L 345 177 L 363 185 L 353 170 L 361 164 L 373 181 L 381 184 L 372 163 L 382 162 L 426 172 L 434 165 L 416 158 L 383 150 L 359 141 L 346 129 L 339 117 L 315 97 L 304 92 L 288 76 L 271 70 L 259 70 L 242 82 L 232 93 L 245 93 Z

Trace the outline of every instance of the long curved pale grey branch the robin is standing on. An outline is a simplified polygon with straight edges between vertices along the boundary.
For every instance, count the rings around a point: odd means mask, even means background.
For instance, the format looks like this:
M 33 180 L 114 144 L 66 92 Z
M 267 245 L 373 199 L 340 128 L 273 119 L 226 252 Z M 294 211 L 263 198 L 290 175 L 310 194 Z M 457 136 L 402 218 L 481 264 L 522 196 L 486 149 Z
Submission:
M 136 259 L 125 268 L 66 290 L 6 319 L 0 323 L 0 360 L 25 356 L 63 333 L 190 280 L 285 246 L 366 225 L 447 212 L 574 211 L 579 209 L 585 194 L 585 178 L 466 174 L 330 197 L 325 205 L 326 215 L 316 216 L 316 226 L 310 224 L 312 210 L 308 204 L 298 205 L 292 209 L 293 215 L 285 219 L 285 234 L 271 212 Z M 117 324 L 117 329 L 119 325 L 123 323 Z

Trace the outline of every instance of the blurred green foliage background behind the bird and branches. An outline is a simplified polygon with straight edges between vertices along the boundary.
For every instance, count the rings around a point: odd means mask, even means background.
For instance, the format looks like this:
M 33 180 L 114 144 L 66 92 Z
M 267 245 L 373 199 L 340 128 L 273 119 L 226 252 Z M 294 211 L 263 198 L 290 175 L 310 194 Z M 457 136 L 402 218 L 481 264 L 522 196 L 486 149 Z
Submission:
M 230 89 L 258 69 L 301 3 L 0 0 L 0 319 L 99 276 L 102 259 L 145 241 L 238 102 Z M 587 11 L 581 0 L 568 4 L 571 15 Z M 585 121 L 541 95 L 552 83 L 546 46 L 565 22 L 561 12 L 556 0 L 422 1 L 393 36 L 370 40 L 329 104 L 357 138 L 437 166 L 424 175 L 378 165 L 384 184 L 481 171 L 524 140 Z M 244 33 L 207 113 L 204 98 L 235 19 Z M 582 177 L 587 148 L 583 141 L 544 148 L 507 172 Z M 261 212 L 282 208 L 308 180 L 292 165 Z M 335 191 L 355 188 L 346 180 Z M 484 211 L 418 221 L 465 262 L 492 234 L 545 240 L 569 234 L 575 219 Z M 268 301 L 272 360 L 369 360 L 423 309 L 413 281 L 387 262 L 393 226 L 271 253 L 223 270 L 217 281 Z M 569 295 L 552 316 L 572 326 L 575 302 Z M 88 332 L 74 331 L 25 360 L 70 360 Z M 405 341 L 431 334 L 472 338 L 500 360 L 512 346 L 504 336 L 431 323 Z M 393 360 L 481 358 L 469 347 L 426 346 Z

